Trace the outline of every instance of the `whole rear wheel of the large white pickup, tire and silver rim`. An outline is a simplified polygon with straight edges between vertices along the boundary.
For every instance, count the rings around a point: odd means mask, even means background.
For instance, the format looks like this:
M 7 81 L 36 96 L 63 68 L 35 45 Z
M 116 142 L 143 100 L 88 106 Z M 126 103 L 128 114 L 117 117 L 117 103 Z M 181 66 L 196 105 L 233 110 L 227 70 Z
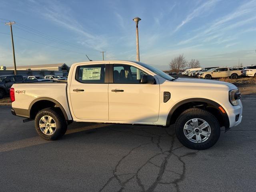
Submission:
M 59 108 L 46 108 L 36 114 L 35 128 L 40 137 L 52 141 L 66 133 L 67 123 Z

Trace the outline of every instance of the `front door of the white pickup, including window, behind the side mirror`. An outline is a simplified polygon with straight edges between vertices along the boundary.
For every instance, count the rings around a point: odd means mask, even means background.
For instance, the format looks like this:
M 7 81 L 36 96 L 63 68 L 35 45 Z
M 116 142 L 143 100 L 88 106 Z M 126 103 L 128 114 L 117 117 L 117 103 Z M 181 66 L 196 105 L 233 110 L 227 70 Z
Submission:
M 156 122 L 159 115 L 159 84 L 141 84 L 146 72 L 128 64 L 110 69 L 113 83 L 108 86 L 109 120 Z

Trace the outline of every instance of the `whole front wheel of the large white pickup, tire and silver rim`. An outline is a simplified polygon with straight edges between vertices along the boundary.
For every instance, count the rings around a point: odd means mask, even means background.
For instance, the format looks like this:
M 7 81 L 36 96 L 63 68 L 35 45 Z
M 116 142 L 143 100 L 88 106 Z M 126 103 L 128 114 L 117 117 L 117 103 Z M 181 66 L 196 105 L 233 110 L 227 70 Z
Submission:
M 210 112 L 190 108 L 176 120 L 175 131 L 178 140 L 187 148 L 204 150 L 218 141 L 220 124 Z

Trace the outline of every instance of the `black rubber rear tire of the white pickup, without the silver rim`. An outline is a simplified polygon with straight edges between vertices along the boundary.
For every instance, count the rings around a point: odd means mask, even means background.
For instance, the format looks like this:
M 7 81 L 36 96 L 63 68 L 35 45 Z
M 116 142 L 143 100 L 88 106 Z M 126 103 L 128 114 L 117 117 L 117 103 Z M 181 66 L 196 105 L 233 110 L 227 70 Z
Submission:
M 39 122 L 43 116 L 50 116 L 51 118 L 53 118 L 53 120 L 56 123 L 55 131 L 51 135 L 44 134 L 40 129 Z M 38 114 L 36 114 L 35 128 L 36 128 L 36 132 L 43 139 L 48 141 L 58 140 L 60 137 L 62 137 L 66 133 L 67 122 L 65 120 L 64 115 L 62 114 L 62 111 L 59 108 L 46 108 L 46 109 L 40 110 Z

